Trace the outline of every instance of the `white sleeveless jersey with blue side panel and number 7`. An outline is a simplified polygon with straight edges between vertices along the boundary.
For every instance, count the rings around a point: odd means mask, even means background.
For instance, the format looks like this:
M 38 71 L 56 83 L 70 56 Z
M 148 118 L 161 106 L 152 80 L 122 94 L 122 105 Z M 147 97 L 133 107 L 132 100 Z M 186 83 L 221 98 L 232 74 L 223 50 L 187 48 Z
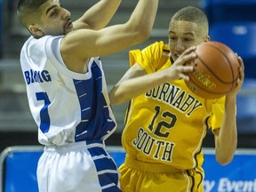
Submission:
M 20 55 L 28 103 L 43 145 L 105 140 L 116 129 L 100 58 L 84 74 L 68 70 L 60 56 L 63 36 L 30 37 Z

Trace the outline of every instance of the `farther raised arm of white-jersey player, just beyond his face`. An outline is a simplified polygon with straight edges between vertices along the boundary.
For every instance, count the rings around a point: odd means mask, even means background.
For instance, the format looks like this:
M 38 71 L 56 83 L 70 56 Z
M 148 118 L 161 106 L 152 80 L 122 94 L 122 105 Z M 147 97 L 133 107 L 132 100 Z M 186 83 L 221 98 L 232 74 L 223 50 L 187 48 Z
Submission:
M 91 28 L 95 30 L 105 28 L 116 13 L 120 3 L 121 0 L 100 0 L 74 22 L 74 28 Z

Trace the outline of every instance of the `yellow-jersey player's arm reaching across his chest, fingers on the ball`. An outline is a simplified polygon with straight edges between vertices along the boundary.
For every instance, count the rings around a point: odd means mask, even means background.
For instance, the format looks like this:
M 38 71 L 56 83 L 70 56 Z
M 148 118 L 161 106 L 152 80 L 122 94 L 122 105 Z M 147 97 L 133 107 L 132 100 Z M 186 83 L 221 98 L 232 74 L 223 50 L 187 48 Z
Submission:
M 109 92 L 110 102 L 112 104 L 123 103 L 167 81 L 174 81 L 180 78 L 186 80 L 188 78 L 186 73 L 193 71 L 194 68 L 192 66 L 184 66 L 184 63 L 196 59 L 195 50 L 196 47 L 190 47 L 180 55 L 179 60 L 176 60 L 172 67 L 151 74 L 147 74 L 147 72 L 140 67 L 140 64 L 135 63 Z

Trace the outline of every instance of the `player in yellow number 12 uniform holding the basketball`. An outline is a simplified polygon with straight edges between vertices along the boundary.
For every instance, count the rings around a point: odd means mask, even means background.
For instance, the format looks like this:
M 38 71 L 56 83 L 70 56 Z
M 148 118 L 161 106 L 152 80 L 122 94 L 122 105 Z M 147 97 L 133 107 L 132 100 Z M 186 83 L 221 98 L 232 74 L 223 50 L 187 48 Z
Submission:
M 172 17 L 169 44 L 156 42 L 130 52 L 132 67 L 110 92 L 112 104 L 131 100 L 122 137 L 127 155 L 119 168 L 124 192 L 204 191 L 202 143 L 210 128 L 216 160 L 232 160 L 243 60 L 237 56 L 240 76 L 223 98 L 204 100 L 185 84 L 194 68 L 183 64 L 194 60 L 196 45 L 209 38 L 204 12 L 186 7 Z

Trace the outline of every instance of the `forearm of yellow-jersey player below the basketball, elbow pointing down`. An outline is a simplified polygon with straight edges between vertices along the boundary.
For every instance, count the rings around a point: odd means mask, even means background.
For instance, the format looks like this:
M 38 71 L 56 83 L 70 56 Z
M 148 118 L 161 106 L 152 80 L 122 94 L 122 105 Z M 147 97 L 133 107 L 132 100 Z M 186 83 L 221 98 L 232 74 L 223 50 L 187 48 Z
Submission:
M 220 164 L 228 164 L 233 159 L 236 146 L 236 97 L 227 97 L 224 118 L 216 142 L 217 161 L 220 162 Z

